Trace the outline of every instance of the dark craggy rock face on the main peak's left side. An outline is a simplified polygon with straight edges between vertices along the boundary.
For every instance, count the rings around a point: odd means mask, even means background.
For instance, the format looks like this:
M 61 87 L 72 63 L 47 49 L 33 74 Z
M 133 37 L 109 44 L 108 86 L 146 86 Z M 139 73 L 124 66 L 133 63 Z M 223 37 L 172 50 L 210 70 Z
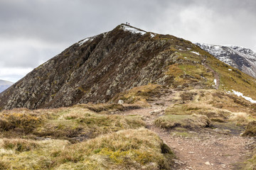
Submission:
M 86 38 L 33 69 L 1 94 L 1 108 L 50 108 L 105 102 L 114 94 L 149 83 L 168 85 L 167 66 L 177 62 L 171 45 L 181 38 L 120 25 Z

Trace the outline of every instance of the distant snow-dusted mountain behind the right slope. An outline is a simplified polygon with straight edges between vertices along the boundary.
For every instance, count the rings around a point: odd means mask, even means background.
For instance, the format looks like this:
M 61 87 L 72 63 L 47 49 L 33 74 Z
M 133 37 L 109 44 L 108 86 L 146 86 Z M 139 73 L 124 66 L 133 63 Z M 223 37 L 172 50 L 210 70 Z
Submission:
M 195 44 L 218 58 L 218 60 L 256 78 L 256 52 L 235 45 Z

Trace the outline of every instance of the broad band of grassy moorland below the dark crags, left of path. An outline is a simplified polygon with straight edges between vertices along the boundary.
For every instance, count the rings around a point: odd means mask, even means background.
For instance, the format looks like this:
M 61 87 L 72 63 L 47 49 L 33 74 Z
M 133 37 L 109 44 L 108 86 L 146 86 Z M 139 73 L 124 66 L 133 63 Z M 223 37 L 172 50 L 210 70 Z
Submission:
M 79 142 L 107 132 L 144 127 L 145 123 L 140 116 L 110 115 L 102 112 L 112 108 L 117 109 L 114 106 L 97 105 L 93 111 L 87 106 L 4 111 L 0 113 L 1 136 L 48 137 Z

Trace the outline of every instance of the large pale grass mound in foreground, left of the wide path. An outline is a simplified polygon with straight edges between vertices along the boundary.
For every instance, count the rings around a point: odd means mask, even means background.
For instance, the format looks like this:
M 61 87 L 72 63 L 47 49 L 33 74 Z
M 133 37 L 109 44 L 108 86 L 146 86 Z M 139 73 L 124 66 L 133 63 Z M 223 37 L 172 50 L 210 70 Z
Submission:
M 80 160 L 87 169 L 95 163 L 98 169 L 171 169 L 174 157 L 154 132 L 145 129 L 122 130 L 96 137 L 70 146 L 68 150 L 71 152 L 61 152 L 59 159 L 65 169 L 81 166 L 77 164 Z M 88 162 L 88 159 L 95 162 Z

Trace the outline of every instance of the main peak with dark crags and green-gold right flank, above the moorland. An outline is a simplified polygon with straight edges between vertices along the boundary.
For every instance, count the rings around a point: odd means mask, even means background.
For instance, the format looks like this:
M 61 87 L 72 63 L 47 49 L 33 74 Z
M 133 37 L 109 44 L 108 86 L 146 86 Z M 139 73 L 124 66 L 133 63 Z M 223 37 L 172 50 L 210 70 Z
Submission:
M 146 84 L 235 90 L 256 98 L 252 93 L 256 92 L 255 79 L 193 43 L 122 24 L 71 45 L 33 69 L 1 94 L 0 107 L 34 109 L 104 103 L 122 91 Z

